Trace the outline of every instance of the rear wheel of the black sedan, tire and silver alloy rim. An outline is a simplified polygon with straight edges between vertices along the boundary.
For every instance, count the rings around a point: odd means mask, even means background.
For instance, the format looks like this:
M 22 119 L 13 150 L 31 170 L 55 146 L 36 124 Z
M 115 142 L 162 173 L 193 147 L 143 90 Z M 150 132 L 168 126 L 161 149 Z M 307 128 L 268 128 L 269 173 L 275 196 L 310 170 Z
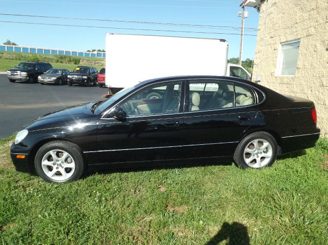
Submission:
M 276 160 L 277 149 L 277 142 L 270 133 L 254 132 L 239 142 L 233 159 L 242 169 L 270 167 Z

